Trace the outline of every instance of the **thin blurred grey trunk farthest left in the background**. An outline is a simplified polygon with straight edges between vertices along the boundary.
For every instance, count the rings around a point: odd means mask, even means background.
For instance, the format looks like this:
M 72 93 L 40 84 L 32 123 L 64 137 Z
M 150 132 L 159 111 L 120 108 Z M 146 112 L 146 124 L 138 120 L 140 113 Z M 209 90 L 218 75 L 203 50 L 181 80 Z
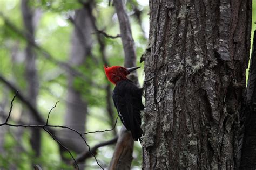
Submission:
M 29 0 L 22 0 L 21 3 L 23 23 L 26 30 L 26 37 L 33 38 L 35 34 L 36 22 L 39 20 L 36 12 L 29 7 Z M 38 12 L 38 11 L 37 11 Z M 36 18 L 34 17 L 36 16 Z M 37 77 L 36 69 L 36 53 L 33 51 L 33 47 L 28 43 L 25 48 L 25 79 L 27 82 L 26 91 L 28 91 L 29 102 L 36 107 L 37 105 L 37 94 L 39 81 Z M 31 112 L 29 115 L 31 115 Z M 31 124 L 38 124 L 32 116 L 30 116 Z M 38 157 L 41 153 L 41 131 L 40 129 L 31 129 L 30 143 Z

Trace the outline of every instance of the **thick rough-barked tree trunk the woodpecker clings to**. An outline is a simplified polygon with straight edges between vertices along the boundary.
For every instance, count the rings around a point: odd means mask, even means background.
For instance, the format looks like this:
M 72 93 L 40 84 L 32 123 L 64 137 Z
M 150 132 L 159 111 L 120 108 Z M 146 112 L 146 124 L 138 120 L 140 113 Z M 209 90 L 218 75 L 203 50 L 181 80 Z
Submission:
M 150 1 L 144 169 L 236 167 L 252 1 Z

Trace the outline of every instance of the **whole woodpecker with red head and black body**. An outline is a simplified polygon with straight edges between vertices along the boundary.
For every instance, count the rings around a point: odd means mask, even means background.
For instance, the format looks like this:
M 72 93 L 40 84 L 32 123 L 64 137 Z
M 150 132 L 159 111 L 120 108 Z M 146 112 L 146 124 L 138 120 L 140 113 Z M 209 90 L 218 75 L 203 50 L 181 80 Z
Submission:
M 121 122 L 128 131 L 131 131 L 134 140 L 141 142 L 143 131 L 140 128 L 142 118 L 140 111 L 144 109 L 142 104 L 142 88 L 138 88 L 126 76 L 140 67 L 124 68 L 121 66 L 104 66 L 107 79 L 114 85 L 113 102 L 117 108 Z

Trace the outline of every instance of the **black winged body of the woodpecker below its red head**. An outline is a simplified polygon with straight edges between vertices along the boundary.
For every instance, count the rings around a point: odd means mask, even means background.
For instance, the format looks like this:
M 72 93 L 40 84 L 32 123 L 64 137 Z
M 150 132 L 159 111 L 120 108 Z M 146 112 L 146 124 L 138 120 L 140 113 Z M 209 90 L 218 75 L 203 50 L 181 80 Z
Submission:
M 117 108 L 122 123 L 130 130 L 134 140 L 142 136 L 140 110 L 144 109 L 142 104 L 142 90 L 130 80 L 117 83 L 113 91 L 113 101 Z

